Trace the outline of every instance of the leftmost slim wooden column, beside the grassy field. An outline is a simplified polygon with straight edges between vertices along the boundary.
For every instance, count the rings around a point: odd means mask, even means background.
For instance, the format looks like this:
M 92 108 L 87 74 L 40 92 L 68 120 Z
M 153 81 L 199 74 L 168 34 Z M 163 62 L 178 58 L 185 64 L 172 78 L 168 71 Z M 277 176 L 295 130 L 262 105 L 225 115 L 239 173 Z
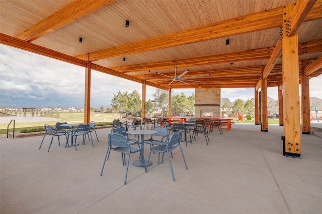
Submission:
M 91 120 L 91 67 L 87 62 L 85 69 L 85 103 L 84 103 L 84 123 Z

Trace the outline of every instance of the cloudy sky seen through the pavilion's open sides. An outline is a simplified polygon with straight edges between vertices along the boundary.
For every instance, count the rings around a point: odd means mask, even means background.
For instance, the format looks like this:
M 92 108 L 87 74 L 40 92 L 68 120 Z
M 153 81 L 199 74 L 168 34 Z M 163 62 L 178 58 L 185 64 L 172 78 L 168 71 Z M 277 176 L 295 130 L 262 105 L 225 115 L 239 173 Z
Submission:
M 92 70 L 91 107 L 111 104 L 119 90 L 141 94 L 141 84 Z M 322 99 L 322 75 L 310 80 L 310 96 Z M 146 100 L 155 89 L 146 87 Z M 194 89 L 174 89 L 190 95 Z M 85 68 L 0 45 L 0 105 L 4 107 L 84 107 Z M 277 100 L 277 88 L 268 88 Z M 222 89 L 221 97 L 235 101 L 254 97 L 254 88 Z

